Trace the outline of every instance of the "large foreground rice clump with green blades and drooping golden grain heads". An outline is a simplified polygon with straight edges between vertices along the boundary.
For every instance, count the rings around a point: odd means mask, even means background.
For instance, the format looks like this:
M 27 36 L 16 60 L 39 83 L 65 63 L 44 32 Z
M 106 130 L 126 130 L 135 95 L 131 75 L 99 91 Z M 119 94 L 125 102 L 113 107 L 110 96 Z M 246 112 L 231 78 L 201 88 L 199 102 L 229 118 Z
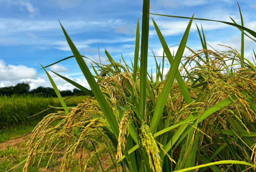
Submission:
M 231 47 L 222 52 L 207 49 L 203 30 L 198 28 L 202 49 L 188 47 L 191 55 L 182 58 L 192 21 L 208 19 L 152 14 L 190 19 L 174 55 L 152 18 L 166 55 L 162 64 L 156 60 L 154 77 L 147 70 L 149 9 L 149 0 L 144 0 L 141 53 L 138 22 L 132 67 L 124 59 L 124 65 L 115 62 L 105 51 L 110 63 L 93 62 L 95 76 L 61 25 L 74 54 L 69 58 L 74 57 L 79 64 L 91 88 L 83 90 L 90 96 L 67 108 L 44 68 L 64 111 L 47 115 L 33 130 L 24 172 L 29 171 L 33 158 L 45 154 L 51 155 L 49 162 L 53 155 L 62 156 L 60 171 L 70 171 L 74 159 L 79 160 L 79 171 L 88 171 L 88 166 L 105 172 L 255 171 L 256 68 L 243 55 L 243 39 L 246 35 L 254 40 L 256 33 L 243 26 L 242 15 L 241 25 L 234 20 L 214 21 L 241 31 L 241 52 Z M 165 60 L 170 66 L 166 75 Z M 60 121 L 49 128 L 55 120 Z M 61 145 L 63 140 L 65 144 Z M 88 150 L 89 144 L 94 147 L 93 153 Z M 112 163 L 107 168 L 98 157 L 101 149 L 109 152 Z M 89 158 L 84 158 L 85 153 Z

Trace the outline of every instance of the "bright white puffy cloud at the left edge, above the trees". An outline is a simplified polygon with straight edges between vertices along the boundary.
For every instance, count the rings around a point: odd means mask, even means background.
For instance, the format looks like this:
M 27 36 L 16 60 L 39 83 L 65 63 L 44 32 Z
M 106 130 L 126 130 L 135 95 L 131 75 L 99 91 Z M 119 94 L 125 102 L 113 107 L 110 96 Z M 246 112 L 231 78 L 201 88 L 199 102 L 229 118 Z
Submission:
M 0 59 L 0 80 L 19 80 L 23 78 L 35 78 L 37 72 L 34 68 L 24 65 L 6 65 Z

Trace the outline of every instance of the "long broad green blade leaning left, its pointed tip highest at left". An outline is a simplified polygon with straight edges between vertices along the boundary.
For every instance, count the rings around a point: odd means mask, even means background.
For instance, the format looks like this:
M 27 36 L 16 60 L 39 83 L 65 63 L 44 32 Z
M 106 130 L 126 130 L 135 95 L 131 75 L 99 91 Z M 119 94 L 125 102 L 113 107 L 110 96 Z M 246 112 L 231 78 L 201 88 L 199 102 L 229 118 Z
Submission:
M 81 54 L 77 50 L 76 46 L 74 45 L 74 43 L 72 42 L 72 40 L 70 39 L 70 37 L 68 36 L 67 32 L 65 31 L 65 29 L 62 25 L 61 25 L 61 28 L 66 37 L 67 43 L 69 44 L 70 49 L 72 50 L 81 71 L 83 72 L 83 75 L 85 76 L 86 80 L 88 81 L 88 84 L 90 85 L 90 88 L 92 89 L 93 94 L 95 95 L 107 121 L 109 122 L 109 125 L 113 131 L 113 134 L 115 135 L 115 138 L 118 139 L 119 127 L 118 127 L 118 123 L 115 119 L 115 116 L 113 114 L 111 107 L 109 106 L 108 102 L 106 101 L 106 98 L 102 94 L 102 92 L 99 88 L 99 85 L 96 83 L 93 75 L 91 74 L 86 63 L 84 62 Z

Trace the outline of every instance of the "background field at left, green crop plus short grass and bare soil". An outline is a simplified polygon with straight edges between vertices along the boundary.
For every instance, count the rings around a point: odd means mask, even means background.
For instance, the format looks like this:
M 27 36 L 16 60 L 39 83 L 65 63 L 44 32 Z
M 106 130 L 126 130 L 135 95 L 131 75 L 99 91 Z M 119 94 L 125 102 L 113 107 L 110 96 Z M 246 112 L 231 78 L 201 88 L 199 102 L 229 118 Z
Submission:
M 78 103 L 82 103 L 87 96 L 73 96 L 65 102 L 67 106 L 73 107 Z M 59 100 L 56 97 L 34 96 L 34 95 L 12 95 L 0 96 L 0 172 L 4 172 L 15 166 L 22 160 L 24 155 L 27 155 L 28 148 L 26 142 L 31 137 L 28 134 L 24 137 L 19 137 L 29 133 L 45 115 L 56 112 L 61 109 L 51 108 L 51 106 L 59 107 Z M 57 104 L 57 105 L 56 105 Z M 48 109 L 49 108 L 49 109 Z M 38 112 L 48 109 L 36 116 L 27 118 Z M 15 138 L 19 137 L 19 138 Z M 42 160 L 42 166 L 47 164 L 49 155 Z M 36 160 L 38 161 L 38 159 Z M 46 164 L 45 164 L 46 163 Z M 58 166 L 58 161 L 49 164 L 48 171 L 54 171 Z M 76 162 L 77 163 L 77 162 Z M 31 167 L 31 172 L 42 171 L 43 168 Z M 22 166 L 14 171 L 22 171 Z M 76 171 L 76 169 L 72 169 Z

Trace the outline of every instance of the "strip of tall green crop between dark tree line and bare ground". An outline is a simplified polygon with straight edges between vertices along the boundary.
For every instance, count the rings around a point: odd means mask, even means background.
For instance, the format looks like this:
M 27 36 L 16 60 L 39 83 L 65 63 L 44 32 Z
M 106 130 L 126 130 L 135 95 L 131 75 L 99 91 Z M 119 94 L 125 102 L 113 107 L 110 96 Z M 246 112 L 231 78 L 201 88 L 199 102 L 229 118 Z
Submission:
M 73 107 L 83 102 L 84 98 L 86 96 L 75 96 L 66 100 L 66 103 L 68 106 Z M 42 120 L 42 117 L 46 114 L 57 110 L 50 108 L 49 105 L 58 107 L 60 106 L 56 105 L 58 103 L 58 98 L 55 97 L 33 95 L 0 96 L 0 129 L 28 125 L 30 122 Z M 27 118 L 47 108 L 49 110 L 35 117 Z

